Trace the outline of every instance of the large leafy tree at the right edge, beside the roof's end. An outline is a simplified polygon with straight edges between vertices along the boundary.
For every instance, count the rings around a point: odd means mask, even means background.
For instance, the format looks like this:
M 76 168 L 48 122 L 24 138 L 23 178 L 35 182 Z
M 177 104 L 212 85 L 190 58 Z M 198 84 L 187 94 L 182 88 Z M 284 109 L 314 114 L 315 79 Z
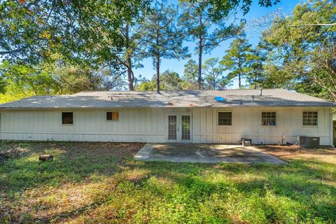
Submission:
M 336 2 L 298 4 L 264 31 L 266 83 L 336 101 Z

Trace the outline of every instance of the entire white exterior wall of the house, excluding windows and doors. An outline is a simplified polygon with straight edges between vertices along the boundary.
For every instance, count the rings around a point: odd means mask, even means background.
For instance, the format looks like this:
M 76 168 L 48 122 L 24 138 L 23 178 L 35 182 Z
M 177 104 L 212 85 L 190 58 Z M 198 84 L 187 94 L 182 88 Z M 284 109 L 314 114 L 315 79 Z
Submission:
M 118 111 L 118 121 L 107 121 L 106 111 Z M 218 112 L 232 111 L 232 125 L 218 126 Z M 276 126 L 262 126 L 261 112 L 276 111 Z M 316 127 L 302 126 L 302 111 L 318 111 Z M 62 112 L 73 112 L 73 125 L 62 125 Z M 255 144 L 294 144 L 297 135 L 320 137 L 332 144 L 329 108 L 223 108 L 223 109 L 76 109 L 0 111 L 0 139 L 43 141 L 167 141 L 167 115 L 191 114 L 194 143 L 237 144 L 250 137 Z

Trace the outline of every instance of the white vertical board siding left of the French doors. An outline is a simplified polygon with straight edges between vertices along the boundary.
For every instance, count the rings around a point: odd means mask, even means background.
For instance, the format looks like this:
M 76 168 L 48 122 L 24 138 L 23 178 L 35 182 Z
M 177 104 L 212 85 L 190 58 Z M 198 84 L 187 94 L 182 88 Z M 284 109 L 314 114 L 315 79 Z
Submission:
M 69 110 L 64 110 L 69 111 Z M 70 110 L 71 111 L 71 110 Z M 106 120 L 118 111 L 119 120 Z M 1 111 L 0 139 L 43 141 L 165 141 L 162 109 L 73 110 L 73 125 L 62 111 Z

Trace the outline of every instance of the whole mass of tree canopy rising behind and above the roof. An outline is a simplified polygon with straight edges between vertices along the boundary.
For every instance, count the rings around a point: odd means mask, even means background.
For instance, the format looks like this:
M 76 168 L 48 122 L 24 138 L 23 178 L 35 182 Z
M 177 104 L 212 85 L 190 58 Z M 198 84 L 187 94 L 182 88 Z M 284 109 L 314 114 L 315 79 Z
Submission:
M 258 45 L 244 36 L 252 3 L 0 1 L 0 101 L 82 90 L 220 90 L 236 82 L 336 101 L 335 1 L 298 3 L 290 15 L 272 18 Z M 204 60 L 229 39 L 221 57 Z M 196 60 L 188 59 L 187 42 Z M 134 73 L 146 58 L 156 71 L 151 80 Z M 162 59 L 185 60 L 184 72 L 162 72 Z

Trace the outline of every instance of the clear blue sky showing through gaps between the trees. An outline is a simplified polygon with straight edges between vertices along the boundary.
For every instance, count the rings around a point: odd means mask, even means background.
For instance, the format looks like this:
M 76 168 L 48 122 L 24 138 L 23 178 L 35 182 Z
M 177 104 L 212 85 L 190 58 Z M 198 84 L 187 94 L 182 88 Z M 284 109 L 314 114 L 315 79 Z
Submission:
M 178 1 L 171 1 L 174 4 L 177 4 Z M 251 22 L 254 19 L 261 18 L 262 16 L 269 15 L 270 13 L 273 13 L 274 11 L 278 10 L 281 13 L 290 14 L 293 11 L 293 8 L 297 3 L 302 2 L 302 0 L 281 0 L 279 3 L 276 4 L 276 6 L 272 6 L 271 8 L 263 8 L 258 5 L 258 1 L 254 0 L 253 5 L 251 6 L 250 11 L 244 16 L 244 19 L 248 24 L 251 24 Z M 240 15 L 242 17 L 242 15 Z M 253 27 L 253 28 L 247 28 L 246 29 L 246 38 L 248 39 L 249 43 L 256 45 L 258 44 L 262 29 L 265 29 L 266 27 Z M 221 43 L 220 46 L 215 48 L 213 51 L 211 51 L 210 54 L 203 56 L 203 62 L 206 59 L 209 59 L 211 57 L 223 57 L 225 50 L 228 49 L 228 46 L 230 42 L 233 39 L 229 39 L 228 41 L 224 41 Z M 195 44 L 194 43 L 185 43 L 186 46 L 189 48 L 189 52 L 191 53 L 191 58 L 198 60 L 198 56 L 195 55 Z M 176 71 L 179 73 L 180 76 L 183 75 L 183 69 L 184 64 L 186 64 L 186 60 L 177 60 L 177 59 L 162 59 L 161 64 L 161 72 L 169 69 L 170 71 Z M 144 76 L 148 79 L 151 79 L 153 75 L 155 74 L 155 69 L 153 68 L 153 61 L 151 58 L 144 59 L 142 62 L 144 64 L 144 67 L 141 69 L 134 70 L 134 74 L 136 77 L 139 77 L 139 75 Z M 237 83 L 234 83 L 232 86 L 233 88 L 237 87 Z

